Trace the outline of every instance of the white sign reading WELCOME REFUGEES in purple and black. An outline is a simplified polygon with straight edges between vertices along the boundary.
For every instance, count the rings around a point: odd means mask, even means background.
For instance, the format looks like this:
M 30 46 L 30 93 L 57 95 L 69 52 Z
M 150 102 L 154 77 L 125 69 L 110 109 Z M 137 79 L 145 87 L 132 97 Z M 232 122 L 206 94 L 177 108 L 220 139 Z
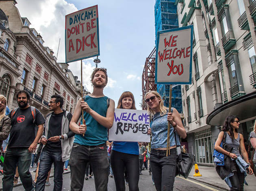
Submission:
M 149 128 L 150 116 L 146 110 L 115 109 L 108 140 L 150 142 L 150 135 L 147 134 Z

